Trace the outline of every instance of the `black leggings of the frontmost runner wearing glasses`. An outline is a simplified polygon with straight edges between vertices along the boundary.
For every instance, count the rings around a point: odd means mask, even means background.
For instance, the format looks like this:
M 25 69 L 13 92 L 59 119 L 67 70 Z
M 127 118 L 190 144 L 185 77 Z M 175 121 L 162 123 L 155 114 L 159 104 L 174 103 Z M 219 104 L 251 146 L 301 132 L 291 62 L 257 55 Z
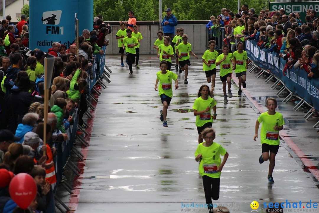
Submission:
M 208 211 L 211 212 L 213 209 L 213 204 L 211 199 L 217 201 L 219 198 L 219 178 L 211 178 L 207 175 L 203 176 L 203 186 L 205 192 L 205 199 L 208 205 Z

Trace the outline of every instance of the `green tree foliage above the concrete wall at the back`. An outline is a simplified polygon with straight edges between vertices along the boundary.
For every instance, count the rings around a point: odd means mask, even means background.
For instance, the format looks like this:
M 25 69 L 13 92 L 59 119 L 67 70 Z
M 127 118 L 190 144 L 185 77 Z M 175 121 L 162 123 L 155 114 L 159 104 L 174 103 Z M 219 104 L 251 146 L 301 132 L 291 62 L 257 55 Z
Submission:
M 273 2 L 274 0 L 271 0 Z M 139 21 L 159 19 L 159 0 L 94 0 L 94 16 L 103 15 L 104 20 L 128 20 L 128 12 L 134 11 Z M 268 8 L 268 0 L 242 0 L 259 15 L 260 10 Z M 216 0 L 162 0 L 162 17 L 167 8 L 178 20 L 209 20 L 211 15 L 218 16 L 222 8 L 229 8 L 234 14 L 238 0 L 219 2 Z

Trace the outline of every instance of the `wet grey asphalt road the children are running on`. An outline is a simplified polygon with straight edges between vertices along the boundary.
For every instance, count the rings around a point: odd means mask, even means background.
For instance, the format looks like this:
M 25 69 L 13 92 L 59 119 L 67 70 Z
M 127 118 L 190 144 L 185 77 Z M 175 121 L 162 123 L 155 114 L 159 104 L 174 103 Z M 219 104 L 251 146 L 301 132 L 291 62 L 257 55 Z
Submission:
M 119 55 L 107 56 L 107 64 L 111 83 L 99 97 L 82 185 L 76 187 L 80 189 L 76 212 L 206 212 L 206 208 L 182 207 L 205 202 L 194 159 L 198 136 L 192 110 L 199 87 L 207 84 L 201 60 L 191 58 L 188 85 L 183 83 L 184 73 L 177 73 L 180 87 L 173 91 L 167 128 L 159 120 L 162 104 L 154 90 L 159 60 L 140 56 L 141 68 L 133 68 L 133 75 L 127 65 L 120 66 Z M 224 104 L 219 73 L 216 78 L 214 141 L 226 148 L 229 157 L 221 174 L 219 200 L 213 203 L 228 206 L 231 212 L 250 212 L 250 203 L 256 200 L 260 212 L 264 202 L 319 202 L 318 181 L 285 141 L 276 157 L 275 183 L 268 184 L 269 163 L 259 164 L 261 144 L 253 136 L 259 110 L 266 110 L 266 97 L 277 90 L 254 74 L 247 79 L 242 97 L 234 80 L 234 96 Z M 305 122 L 303 112 L 292 111 L 293 103 L 282 99 L 278 98 L 277 110 L 284 115 L 285 133 L 316 166 L 318 133 L 311 127 L 316 120 Z M 63 200 L 67 203 L 68 197 Z M 301 206 L 302 210 L 306 209 Z

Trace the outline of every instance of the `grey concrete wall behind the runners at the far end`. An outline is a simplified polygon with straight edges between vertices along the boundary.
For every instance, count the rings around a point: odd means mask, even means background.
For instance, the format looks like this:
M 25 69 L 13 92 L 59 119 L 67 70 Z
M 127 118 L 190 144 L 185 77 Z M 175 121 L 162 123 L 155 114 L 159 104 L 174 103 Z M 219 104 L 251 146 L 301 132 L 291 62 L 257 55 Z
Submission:
M 184 33 L 188 35 L 188 42 L 192 45 L 192 52 L 195 54 L 203 54 L 208 44 L 206 44 L 206 28 L 205 24 L 189 24 L 189 25 L 177 25 L 176 27 L 183 27 Z M 106 37 L 109 39 L 109 45 L 106 48 L 106 54 L 119 54 L 118 42 L 115 38 L 120 26 L 111 26 L 112 33 Z M 175 30 L 176 30 L 175 27 Z M 140 54 L 154 54 L 156 55 L 156 49 L 153 48 L 157 37 L 157 31 L 159 25 L 141 25 L 138 26 L 138 32 L 143 36 L 140 42 Z

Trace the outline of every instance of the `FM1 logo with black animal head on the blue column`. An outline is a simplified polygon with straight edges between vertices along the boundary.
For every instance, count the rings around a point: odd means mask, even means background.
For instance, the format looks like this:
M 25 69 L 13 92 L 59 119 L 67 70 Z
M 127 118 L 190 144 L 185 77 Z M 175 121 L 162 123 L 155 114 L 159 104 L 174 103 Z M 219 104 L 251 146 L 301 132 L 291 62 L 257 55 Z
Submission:
M 42 23 L 45 25 L 58 25 L 61 20 L 62 10 L 46 11 L 42 13 Z M 46 34 L 61 34 L 63 35 L 63 27 L 47 26 Z

